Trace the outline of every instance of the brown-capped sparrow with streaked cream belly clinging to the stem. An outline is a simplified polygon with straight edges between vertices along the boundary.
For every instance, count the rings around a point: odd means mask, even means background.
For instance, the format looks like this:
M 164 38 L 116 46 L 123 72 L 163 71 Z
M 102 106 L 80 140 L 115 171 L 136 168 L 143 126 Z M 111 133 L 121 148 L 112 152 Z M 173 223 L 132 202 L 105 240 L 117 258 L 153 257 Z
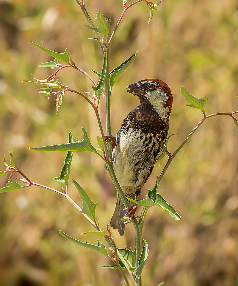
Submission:
M 137 200 L 165 144 L 173 96 L 167 84 L 155 78 L 140 80 L 126 89 L 139 97 L 140 105 L 126 116 L 116 137 L 105 138 L 112 141 L 113 168 L 125 196 L 135 195 Z M 112 228 L 123 235 L 125 224 L 121 219 L 126 216 L 133 220 L 136 209 L 136 204 L 125 209 L 117 196 Z

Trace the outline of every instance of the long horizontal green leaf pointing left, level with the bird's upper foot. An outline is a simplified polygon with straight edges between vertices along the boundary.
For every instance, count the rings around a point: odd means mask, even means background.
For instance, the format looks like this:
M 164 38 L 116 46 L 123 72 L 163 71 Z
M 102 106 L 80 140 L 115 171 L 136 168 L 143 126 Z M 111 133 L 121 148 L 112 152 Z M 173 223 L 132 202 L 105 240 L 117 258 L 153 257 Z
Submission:
M 84 134 L 84 139 L 82 141 L 28 149 L 34 151 L 88 151 L 97 153 L 95 147 L 90 143 L 86 130 L 82 128 L 82 131 Z

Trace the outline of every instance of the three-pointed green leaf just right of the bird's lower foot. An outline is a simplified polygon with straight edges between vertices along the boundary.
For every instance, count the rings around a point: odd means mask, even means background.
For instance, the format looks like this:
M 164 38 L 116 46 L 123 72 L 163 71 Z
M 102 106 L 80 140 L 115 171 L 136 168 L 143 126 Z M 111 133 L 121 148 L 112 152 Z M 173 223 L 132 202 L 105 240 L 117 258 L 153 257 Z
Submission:
M 150 208 L 151 206 L 160 206 L 162 207 L 168 214 L 170 214 L 175 220 L 180 220 L 181 216 L 176 212 L 175 209 L 170 206 L 164 198 L 162 198 L 156 191 L 158 187 L 158 176 L 156 180 L 156 184 L 154 185 L 153 190 L 148 190 L 148 195 L 144 200 L 133 200 L 131 198 L 127 198 L 133 203 L 137 203 L 141 206 L 145 206 L 146 208 Z

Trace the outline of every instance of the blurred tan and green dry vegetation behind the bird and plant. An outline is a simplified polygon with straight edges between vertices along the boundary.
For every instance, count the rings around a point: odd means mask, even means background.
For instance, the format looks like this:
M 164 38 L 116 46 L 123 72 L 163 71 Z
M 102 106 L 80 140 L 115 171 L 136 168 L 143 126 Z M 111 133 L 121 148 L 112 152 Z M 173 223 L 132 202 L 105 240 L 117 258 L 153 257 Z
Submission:
M 130 2 L 130 1 L 129 1 Z M 112 15 L 114 27 L 122 1 L 86 0 L 94 19 L 99 8 Z M 202 118 L 201 111 L 186 107 L 180 86 L 197 97 L 208 98 L 206 113 L 232 112 L 238 107 L 238 2 L 237 0 L 166 0 L 146 26 L 145 3 L 130 8 L 111 46 L 110 69 L 139 50 L 112 92 L 112 134 L 138 99 L 125 87 L 144 78 L 157 77 L 171 88 L 174 104 L 170 117 L 169 150 L 173 152 Z M 66 93 L 59 114 L 52 101 L 37 94 L 37 86 L 22 83 L 46 78 L 50 70 L 36 68 L 52 58 L 35 46 L 63 52 L 67 47 L 77 66 L 95 77 L 102 57 L 76 1 L 0 2 L 1 11 L 1 158 L 14 154 L 17 166 L 28 178 L 56 189 L 52 178 L 60 174 L 65 152 L 28 151 L 65 143 L 71 130 L 82 140 L 83 126 L 92 144 L 99 135 L 89 104 Z M 79 91 L 92 84 L 73 69 L 64 69 L 61 82 Z M 104 118 L 104 99 L 100 102 Z M 161 181 L 159 193 L 181 214 L 175 221 L 160 208 L 151 208 L 143 238 L 149 256 L 143 285 L 233 286 L 238 285 L 238 133 L 228 116 L 207 119 L 173 160 Z M 7 155 L 7 160 L 9 156 Z M 2 166 L 3 167 L 3 164 Z M 154 186 L 162 166 L 156 165 L 140 196 Z M 115 206 L 115 189 L 101 159 L 95 154 L 74 154 L 74 178 L 98 203 L 101 228 L 109 223 Z M 15 180 L 13 176 L 12 180 Z M 1 186 L 7 176 L 1 177 Z M 72 184 L 69 194 L 80 204 Z M 0 196 L 0 284 L 4 286 L 102 286 L 120 285 L 119 271 L 99 268 L 111 264 L 101 254 L 71 243 L 65 233 L 90 243 L 97 237 L 81 236 L 93 230 L 87 220 L 64 198 L 31 187 Z M 117 245 L 134 248 L 134 228 L 124 237 L 113 232 Z M 101 242 L 104 243 L 103 240 Z

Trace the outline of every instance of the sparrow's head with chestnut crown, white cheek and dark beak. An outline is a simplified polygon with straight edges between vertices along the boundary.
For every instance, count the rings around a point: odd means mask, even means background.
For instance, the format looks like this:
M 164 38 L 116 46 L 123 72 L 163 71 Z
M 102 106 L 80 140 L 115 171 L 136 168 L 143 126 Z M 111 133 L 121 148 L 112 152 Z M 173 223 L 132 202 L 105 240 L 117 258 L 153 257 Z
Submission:
M 127 92 L 137 95 L 141 105 L 152 105 L 161 117 L 167 117 L 172 108 L 173 96 L 170 88 L 162 80 L 149 78 L 132 83 Z

